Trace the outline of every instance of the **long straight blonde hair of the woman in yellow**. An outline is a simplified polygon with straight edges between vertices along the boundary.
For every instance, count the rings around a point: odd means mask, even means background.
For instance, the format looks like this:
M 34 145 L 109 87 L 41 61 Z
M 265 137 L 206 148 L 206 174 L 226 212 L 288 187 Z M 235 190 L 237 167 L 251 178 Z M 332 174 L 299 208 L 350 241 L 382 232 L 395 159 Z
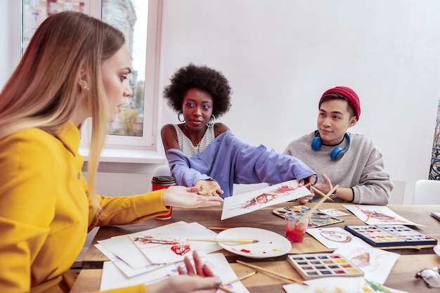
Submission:
M 78 103 L 91 112 L 89 196 L 97 211 L 96 172 L 108 129 L 101 63 L 122 48 L 124 41 L 122 32 L 84 13 L 53 15 L 39 26 L 0 93 L 0 139 L 30 127 L 55 136 Z M 81 100 L 80 74 L 89 87 Z

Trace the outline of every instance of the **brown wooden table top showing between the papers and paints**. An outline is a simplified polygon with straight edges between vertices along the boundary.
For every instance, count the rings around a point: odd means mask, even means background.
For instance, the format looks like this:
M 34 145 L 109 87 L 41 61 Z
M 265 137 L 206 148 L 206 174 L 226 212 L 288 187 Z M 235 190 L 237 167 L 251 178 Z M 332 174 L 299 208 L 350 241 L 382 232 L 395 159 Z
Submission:
M 280 216 L 273 214 L 272 210 L 277 207 L 287 207 L 294 205 L 292 202 L 273 205 L 264 209 L 253 211 L 250 214 L 244 214 L 242 216 L 236 216 L 231 219 L 220 221 L 221 207 L 210 207 L 203 209 L 174 209 L 172 219 L 169 220 L 156 220 L 149 219 L 142 223 L 137 223 L 128 226 L 105 226 L 100 228 L 96 234 L 95 239 L 89 250 L 84 255 L 82 267 L 83 270 L 79 274 L 79 278 L 75 283 L 75 287 L 71 293 L 78 292 L 91 292 L 99 289 L 101 282 L 103 261 L 108 259 L 99 252 L 93 244 L 96 244 L 98 240 L 108 239 L 109 237 L 116 235 L 124 235 L 129 233 L 135 233 L 143 230 L 148 230 L 158 226 L 163 226 L 168 223 L 174 223 L 176 221 L 198 222 L 205 227 L 254 227 L 271 230 L 285 235 L 284 220 Z M 309 207 L 313 207 L 313 203 L 307 204 Z M 431 211 L 440 211 L 440 205 L 388 205 L 390 209 L 397 214 L 405 217 L 409 221 L 420 223 L 425 226 L 412 227 L 427 235 L 431 235 L 436 239 L 440 239 L 440 221 L 429 216 Z M 341 204 L 324 203 L 321 208 L 330 209 L 335 208 L 341 211 L 346 211 L 349 216 L 344 216 L 343 223 L 333 224 L 331 227 L 339 226 L 344 228 L 345 225 L 363 225 L 363 221 L 359 220 L 351 212 L 342 207 Z M 433 245 L 425 245 L 419 247 L 390 247 L 387 250 L 398 252 L 401 257 L 396 262 L 392 273 L 389 275 L 387 282 L 384 285 L 405 290 L 407 292 L 432 292 L 420 279 L 415 279 L 414 275 L 416 271 L 420 271 L 422 268 L 438 266 L 440 263 L 440 257 L 434 254 Z M 328 249 L 320 242 L 315 240 L 312 236 L 306 234 L 304 242 L 292 243 L 292 249 L 290 254 L 299 253 L 316 253 L 316 252 L 331 252 L 333 249 Z M 290 275 L 294 278 L 300 278 L 297 272 L 285 261 L 285 256 L 279 256 L 271 259 L 250 259 L 245 256 L 238 256 L 221 250 L 224 253 L 226 259 L 231 263 L 231 267 L 237 275 L 245 275 L 252 271 L 251 268 L 235 263 L 236 259 L 251 262 L 257 266 L 268 268 L 272 271 L 278 271 L 284 275 Z M 86 268 L 86 269 L 84 269 Z M 252 293 L 259 292 L 271 292 L 271 293 L 285 293 L 281 285 L 285 284 L 285 280 L 272 277 L 270 275 L 259 274 L 258 278 L 250 278 L 242 281 L 243 285 L 247 287 Z

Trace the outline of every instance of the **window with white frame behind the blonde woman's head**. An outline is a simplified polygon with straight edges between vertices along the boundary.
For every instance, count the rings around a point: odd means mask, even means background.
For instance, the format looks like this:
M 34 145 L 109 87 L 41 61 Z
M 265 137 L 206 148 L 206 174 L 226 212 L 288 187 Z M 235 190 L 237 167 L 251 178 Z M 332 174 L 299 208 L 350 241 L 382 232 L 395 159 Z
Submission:
M 127 99 L 124 110 L 110 126 L 107 148 L 125 146 L 154 150 L 157 132 L 157 103 L 154 103 L 158 83 L 156 63 L 159 62 L 157 31 L 160 29 L 161 6 L 162 0 L 22 0 L 22 51 L 44 19 L 65 10 L 101 18 L 124 33 L 133 60 L 131 86 L 134 96 Z M 82 145 L 87 144 L 84 139 Z

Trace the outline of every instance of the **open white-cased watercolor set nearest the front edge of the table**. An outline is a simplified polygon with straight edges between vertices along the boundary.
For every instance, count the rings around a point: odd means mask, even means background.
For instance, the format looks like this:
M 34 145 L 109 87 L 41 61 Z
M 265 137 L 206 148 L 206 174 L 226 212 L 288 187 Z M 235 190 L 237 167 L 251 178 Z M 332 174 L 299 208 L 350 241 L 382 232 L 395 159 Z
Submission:
M 304 280 L 323 277 L 358 277 L 363 271 L 341 254 L 288 254 L 287 261 Z

